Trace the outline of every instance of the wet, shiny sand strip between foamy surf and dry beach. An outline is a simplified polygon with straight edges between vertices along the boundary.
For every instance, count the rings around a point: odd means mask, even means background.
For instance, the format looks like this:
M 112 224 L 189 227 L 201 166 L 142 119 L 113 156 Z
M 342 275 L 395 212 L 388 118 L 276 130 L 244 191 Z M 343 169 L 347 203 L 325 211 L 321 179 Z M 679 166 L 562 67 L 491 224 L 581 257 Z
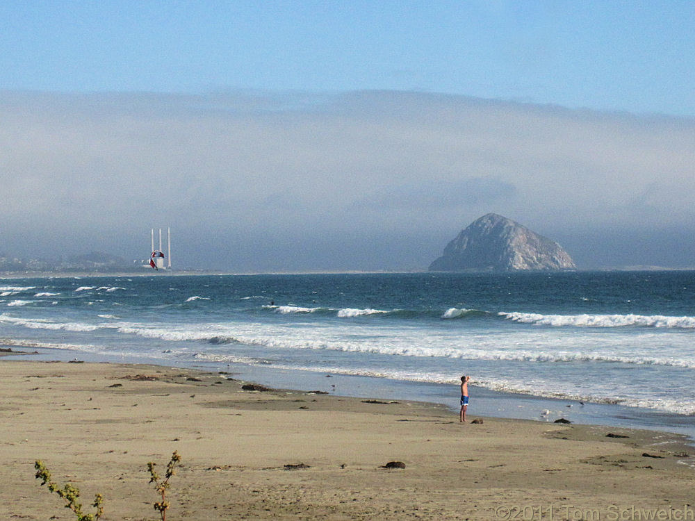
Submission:
M 162 361 L 158 358 L 106 355 L 63 349 L 36 349 L 35 352 L 3 352 L 0 362 L 7 360 L 62 361 L 86 363 L 117 363 L 132 365 L 158 365 L 167 368 L 186 368 L 218 372 L 234 379 L 252 381 L 272 388 L 309 392 L 318 390 L 329 395 L 364 399 L 383 399 L 393 402 L 412 400 L 445 406 L 452 417 L 458 416 L 458 386 L 442 383 L 402 381 L 339 372 L 317 372 L 277 368 L 271 365 L 243 363 L 213 363 L 206 361 Z M 646 429 L 686 436 L 695 445 L 695 418 L 653 411 L 647 408 L 578 402 L 563 398 L 548 398 L 516 392 L 503 392 L 470 385 L 471 417 L 497 417 L 509 420 L 530 420 L 552 424 L 555 420 L 569 420 L 573 424 Z

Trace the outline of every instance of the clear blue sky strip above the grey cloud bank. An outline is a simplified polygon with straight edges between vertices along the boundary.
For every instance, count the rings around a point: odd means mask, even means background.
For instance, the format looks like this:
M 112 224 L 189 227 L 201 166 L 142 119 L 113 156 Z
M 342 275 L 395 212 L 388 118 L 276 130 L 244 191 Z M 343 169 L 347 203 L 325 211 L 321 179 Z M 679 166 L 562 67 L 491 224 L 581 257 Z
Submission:
M 693 1 L 4 1 L 0 88 L 409 90 L 695 115 Z

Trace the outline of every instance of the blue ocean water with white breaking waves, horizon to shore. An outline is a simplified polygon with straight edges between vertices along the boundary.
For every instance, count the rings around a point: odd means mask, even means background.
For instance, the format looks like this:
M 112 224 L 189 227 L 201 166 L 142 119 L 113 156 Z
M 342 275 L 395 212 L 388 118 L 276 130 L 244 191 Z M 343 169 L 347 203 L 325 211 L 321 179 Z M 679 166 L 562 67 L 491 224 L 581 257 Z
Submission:
M 695 272 L 1 279 L 0 341 L 448 392 L 470 374 L 485 392 L 695 424 Z

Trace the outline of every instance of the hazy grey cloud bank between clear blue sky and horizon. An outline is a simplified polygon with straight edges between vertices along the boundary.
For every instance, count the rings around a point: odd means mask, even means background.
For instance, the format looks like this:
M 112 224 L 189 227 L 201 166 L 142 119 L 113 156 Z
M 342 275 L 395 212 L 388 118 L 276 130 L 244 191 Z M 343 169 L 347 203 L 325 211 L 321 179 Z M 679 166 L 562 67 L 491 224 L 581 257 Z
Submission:
M 693 266 L 695 120 L 438 94 L 0 93 L 0 253 L 427 266 L 494 211 L 582 267 Z M 629 254 L 628 254 L 629 252 Z

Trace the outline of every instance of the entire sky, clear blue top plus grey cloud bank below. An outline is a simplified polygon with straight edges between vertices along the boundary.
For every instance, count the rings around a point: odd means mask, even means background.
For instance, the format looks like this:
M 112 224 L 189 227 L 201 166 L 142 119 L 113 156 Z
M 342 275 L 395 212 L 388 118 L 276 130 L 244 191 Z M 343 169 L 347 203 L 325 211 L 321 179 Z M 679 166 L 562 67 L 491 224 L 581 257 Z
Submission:
M 193 267 L 421 270 L 495 212 L 582 268 L 695 267 L 695 1 L 8 0 L 0 20 L 0 254 L 138 258 L 171 226 Z

